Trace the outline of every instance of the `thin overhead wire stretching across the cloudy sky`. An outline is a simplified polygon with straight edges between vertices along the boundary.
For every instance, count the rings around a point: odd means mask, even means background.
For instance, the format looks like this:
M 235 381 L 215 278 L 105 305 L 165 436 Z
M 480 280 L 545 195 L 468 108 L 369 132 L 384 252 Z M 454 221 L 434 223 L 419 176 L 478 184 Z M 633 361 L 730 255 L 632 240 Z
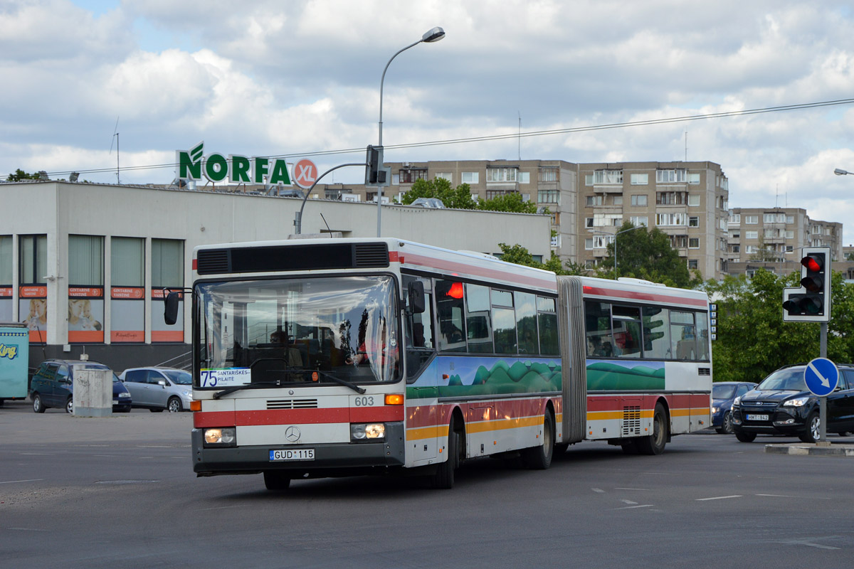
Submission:
M 434 141 L 426 141 L 426 142 L 407 142 L 402 144 L 390 144 L 386 146 L 386 149 L 389 148 L 424 148 L 430 146 L 445 146 L 448 144 L 465 144 L 469 142 L 488 142 L 488 141 L 496 141 L 496 140 L 506 140 L 508 138 L 519 138 L 519 137 L 532 137 L 532 136 L 551 136 L 551 135 L 559 135 L 559 134 L 572 134 L 575 132 L 590 132 L 590 131 L 606 131 L 609 129 L 623 129 L 634 126 L 651 126 L 651 125 L 668 125 L 670 123 L 682 123 L 688 122 L 692 120 L 707 120 L 707 119 L 724 119 L 728 117 L 740 117 L 747 116 L 751 114 L 762 114 L 762 113 L 781 113 L 784 111 L 799 111 L 810 108 L 819 108 L 819 107 L 833 107 L 838 105 L 851 105 L 854 103 L 854 98 L 852 99 L 837 99 L 835 101 L 820 101 L 820 102 L 807 102 L 807 103 L 799 103 L 796 105 L 782 105 L 780 107 L 762 107 L 762 108 L 751 108 L 741 111 L 725 111 L 722 113 L 705 113 L 705 114 L 689 114 L 683 117 L 670 117 L 666 119 L 647 119 L 647 120 L 634 120 L 623 123 L 611 123 L 607 125 L 593 125 L 593 126 L 576 126 L 565 129 L 552 129 L 547 131 L 529 131 L 529 132 L 512 132 L 506 134 L 498 134 L 498 135 L 487 135 L 487 136 L 468 136 L 465 138 L 449 138 L 445 140 L 434 140 Z M 363 153 L 365 152 L 365 148 L 341 148 L 338 150 L 317 150 L 313 152 L 300 152 L 300 153 L 290 153 L 290 154 L 270 154 L 265 156 L 265 158 L 278 158 L 278 159 L 288 159 L 288 158 L 296 158 L 296 157 L 316 157 L 316 156 L 330 156 L 333 154 L 355 154 L 355 153 Z M 157 170 L 163 168 L 175 168 L 178 165 L 175 163 L 171 164 L 153 164 L 153 165 L 138 165 L 138 166 L 125 166 L 122 170 L 124 171 L 140 171 L 140 170 Z M 114 168 L 91 168 L 89 170 L 74 170 L 79 172 L 80 174 L 94 174 L 99 172 L 112 172 Z M 56 171 L 56 172 L 48 172 L 51 176 L 61 176 L 64 174 L 70 174 L 71 171 Z M 8 177 L 7 177 L 8 178 Z

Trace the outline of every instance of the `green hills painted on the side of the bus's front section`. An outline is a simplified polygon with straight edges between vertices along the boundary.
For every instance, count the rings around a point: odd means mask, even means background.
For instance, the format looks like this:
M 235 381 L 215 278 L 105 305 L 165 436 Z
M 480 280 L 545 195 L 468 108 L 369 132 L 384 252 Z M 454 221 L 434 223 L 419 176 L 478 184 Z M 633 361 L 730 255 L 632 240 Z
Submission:
M 465 374 L 468 376 L 468 374 Z M 500 360 L 487 369 L 479 365 L 471 384 L 463 382 L 463 376 L 451 375 L 447 386 L 440 387 L 441 397 L 496 395 L 501 393 L 559 392 L 560 366 L 557 363 L 517 361 L 512 365 Z

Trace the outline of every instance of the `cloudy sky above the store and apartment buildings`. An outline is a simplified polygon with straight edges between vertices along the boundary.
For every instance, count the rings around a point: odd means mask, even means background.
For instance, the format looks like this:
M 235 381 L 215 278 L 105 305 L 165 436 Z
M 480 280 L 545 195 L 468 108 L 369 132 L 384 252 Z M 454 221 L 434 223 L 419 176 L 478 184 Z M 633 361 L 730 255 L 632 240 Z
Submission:
M 854 176 L 833 173 L 854 171 L 854 104 L 810 107 L 854 98 L 850 1 L 0 0 L 0 177 L 112 183 L 116 140 L 122 183 L 168 183 L 199 141 L 362 161 L 383 67 L 433 26 L 386 74 L 387 160 L 710 160 L 730 206 L 804 207 L 854 243 Z

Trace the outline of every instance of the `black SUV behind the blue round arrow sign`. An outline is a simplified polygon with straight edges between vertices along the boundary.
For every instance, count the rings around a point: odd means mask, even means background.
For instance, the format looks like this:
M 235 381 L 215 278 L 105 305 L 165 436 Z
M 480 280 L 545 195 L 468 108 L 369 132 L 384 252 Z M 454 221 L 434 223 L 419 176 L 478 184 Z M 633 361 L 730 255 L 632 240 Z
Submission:
M 839 363 L 839 384 L 828 395 L 828 433 L 854 431 L 854 365 Z M 742 443 L 757 434 L 798 435 L 805 443 L 818 440 L 821 421 L 818 398 L 804 381 L 805 363 L 770 374 L 752 391 L 733 402 L 733 430 Z

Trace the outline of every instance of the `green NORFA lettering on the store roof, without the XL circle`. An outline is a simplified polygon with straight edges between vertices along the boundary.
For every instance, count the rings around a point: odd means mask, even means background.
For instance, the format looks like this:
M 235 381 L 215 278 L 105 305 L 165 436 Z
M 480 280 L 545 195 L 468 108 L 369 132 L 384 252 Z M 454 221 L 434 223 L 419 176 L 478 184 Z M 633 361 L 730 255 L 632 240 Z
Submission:
M 199 142 L 191 150 L 177 150 L 178 178 L 201 181 L 202 176 L 213 183 L 228 180 L 231 183 L 281 183 L 290 186 L 288 165 L 282 159 L 263 156 L 247 158 L 238 154 L 227 157 L 217 152 L 204 154 L 205 143 Z M 265 177 L 267 178 L 265 180 Z

